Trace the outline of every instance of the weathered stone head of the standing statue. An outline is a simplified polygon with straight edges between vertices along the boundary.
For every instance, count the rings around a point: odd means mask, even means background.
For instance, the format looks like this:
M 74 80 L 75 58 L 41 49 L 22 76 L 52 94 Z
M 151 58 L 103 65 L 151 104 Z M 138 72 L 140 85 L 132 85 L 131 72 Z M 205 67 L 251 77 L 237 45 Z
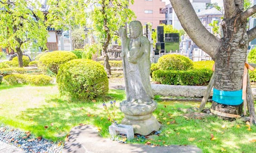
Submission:
M 142 25 L 140 21 L 131 21 L 129 24 L 129 32 L 131 38 L 142 36 Z

